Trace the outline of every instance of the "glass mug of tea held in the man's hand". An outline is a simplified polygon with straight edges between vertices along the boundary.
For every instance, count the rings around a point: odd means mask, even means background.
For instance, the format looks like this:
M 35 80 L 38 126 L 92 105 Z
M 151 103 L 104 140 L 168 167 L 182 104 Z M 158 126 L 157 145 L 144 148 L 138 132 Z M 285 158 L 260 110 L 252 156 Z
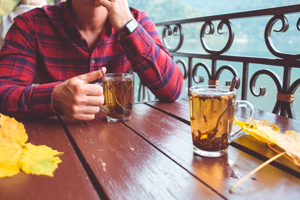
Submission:
M 131 73 L 107 73 L 99 84 L 103 87 L 107 121 L 127 121 L 131 118 L 134 75 Z

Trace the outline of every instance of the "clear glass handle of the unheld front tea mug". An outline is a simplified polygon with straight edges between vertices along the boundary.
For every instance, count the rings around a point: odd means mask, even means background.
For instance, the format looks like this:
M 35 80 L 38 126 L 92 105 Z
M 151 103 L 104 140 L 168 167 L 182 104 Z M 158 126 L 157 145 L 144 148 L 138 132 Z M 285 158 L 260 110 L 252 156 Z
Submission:
M 242 132 L 242 129 L 247 129 L 247 126 L 252 123 L 252 121 L 254 119 L 254 115 L 255 115 L 254 106 L 249 101 L 236 100 L 234 104 L 235 104 L 235 107 L 248 108 L 250 110 L 250 114 L 246 120 L 246 124 L 240 130 L 229 134 L 228 143 L 232 142 L 233 140 L 237 139 L 238 137 L 240 137 L 241 135 L 243 135 L 245 133 L 245 132 Z

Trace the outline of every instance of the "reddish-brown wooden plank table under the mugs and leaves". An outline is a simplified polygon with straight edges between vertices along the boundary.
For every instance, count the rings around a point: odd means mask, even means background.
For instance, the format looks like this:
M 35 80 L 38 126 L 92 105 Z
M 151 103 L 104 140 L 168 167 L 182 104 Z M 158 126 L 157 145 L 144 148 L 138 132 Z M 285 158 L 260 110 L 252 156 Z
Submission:
M 236 112 L 244 118 L 245 110 Z M 300 121 L 256 110 L 280 130 L 300 132 Z M 29 141 L 63 151 L 54 177 L 19 174 L 0 179 L 0 199 L 300 199 L 300 169 L 273 161 L 229 193 L 240 177 L 275 155 L 249 135 L 226 156 L 193 154 L 189 104 L 146 102 L 132 119 L 107 122 L 68 117 L 21 120 Z M 237 127 L 234 127 L 235 129 Z

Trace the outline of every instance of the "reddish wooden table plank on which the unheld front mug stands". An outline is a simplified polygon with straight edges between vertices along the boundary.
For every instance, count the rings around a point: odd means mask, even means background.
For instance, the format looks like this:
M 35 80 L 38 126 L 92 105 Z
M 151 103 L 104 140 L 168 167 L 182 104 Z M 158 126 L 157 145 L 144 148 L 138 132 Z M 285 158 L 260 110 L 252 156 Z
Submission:
M 238 178 L 262 161 L 232 146 L 229 146 L 228 156 L 195 156 L 189 125 L 145 104 L 135 104 L 133 110 L 132 119 L 126 121 L 126 125 L 225 197 L 276 199 L 288 195 L 288 199 L 298 199 L 300 179 L 271 165 L 245 180 L 233 194 L 229 193 L 228 189 Z

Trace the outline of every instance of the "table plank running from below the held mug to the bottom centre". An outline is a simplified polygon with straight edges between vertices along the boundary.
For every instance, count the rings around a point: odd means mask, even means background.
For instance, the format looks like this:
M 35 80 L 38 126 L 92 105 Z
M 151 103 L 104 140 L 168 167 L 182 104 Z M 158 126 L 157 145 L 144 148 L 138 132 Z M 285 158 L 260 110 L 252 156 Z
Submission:
M 220 199 L 185 169 L 104 113 L 92 121 L 62 117 L 110 199 Z

